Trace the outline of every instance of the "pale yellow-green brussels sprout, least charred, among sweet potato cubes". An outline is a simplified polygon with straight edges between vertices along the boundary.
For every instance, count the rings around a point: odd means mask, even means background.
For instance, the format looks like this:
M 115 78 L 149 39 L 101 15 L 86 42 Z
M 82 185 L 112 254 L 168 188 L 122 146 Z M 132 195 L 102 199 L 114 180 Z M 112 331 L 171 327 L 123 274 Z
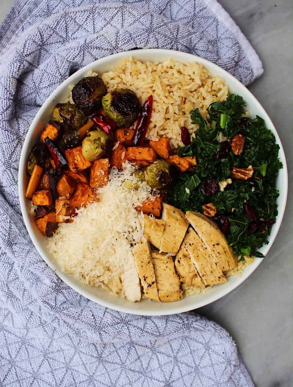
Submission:
M 107 154 L 110 150 L 111 137 L 103 130 L 93 130 L 83 139 L 83 156 L 92 163 Z

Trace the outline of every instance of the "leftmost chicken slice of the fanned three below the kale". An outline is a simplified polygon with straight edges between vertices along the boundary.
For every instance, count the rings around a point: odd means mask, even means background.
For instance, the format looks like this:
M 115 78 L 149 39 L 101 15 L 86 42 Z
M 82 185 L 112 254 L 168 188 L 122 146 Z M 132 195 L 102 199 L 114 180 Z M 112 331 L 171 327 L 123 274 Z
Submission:
M 190 254 L 186 250 L 184 243 L 181 245 L 180 250 L 176 255 L 175 268 L 182 283 L 185 283 L 187 286 L 205 287 L 195 265 L 191 261 Z

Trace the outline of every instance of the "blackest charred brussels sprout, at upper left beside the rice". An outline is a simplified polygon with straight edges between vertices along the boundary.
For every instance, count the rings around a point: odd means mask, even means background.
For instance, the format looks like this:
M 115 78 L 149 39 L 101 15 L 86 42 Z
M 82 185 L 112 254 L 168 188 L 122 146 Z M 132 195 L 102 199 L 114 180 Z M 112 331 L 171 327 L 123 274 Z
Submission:
M 89 116 L 97 113 L 106 92 L 102 78 L 84 77 L 73 87 L 72 99 L 79 109 Z

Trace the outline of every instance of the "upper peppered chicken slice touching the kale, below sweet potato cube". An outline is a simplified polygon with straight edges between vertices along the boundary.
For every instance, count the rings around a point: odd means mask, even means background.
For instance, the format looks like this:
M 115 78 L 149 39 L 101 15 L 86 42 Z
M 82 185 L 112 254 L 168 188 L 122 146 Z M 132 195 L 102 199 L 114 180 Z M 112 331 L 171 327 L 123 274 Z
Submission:
M 176 254 L 188 228 L 188 221 L 182 211 L 163 203 L 162 219 L 165 221 L 160 251 Z

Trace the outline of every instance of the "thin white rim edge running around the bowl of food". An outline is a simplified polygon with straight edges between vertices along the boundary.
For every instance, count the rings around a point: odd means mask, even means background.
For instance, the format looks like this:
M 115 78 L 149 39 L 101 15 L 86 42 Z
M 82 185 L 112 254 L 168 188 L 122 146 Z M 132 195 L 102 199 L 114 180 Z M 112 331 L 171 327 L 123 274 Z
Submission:
M 91 300 L 91 301 L 93 301 L 95 303 L 98 303 L 98 304 L 100 304 L 100 305 L 102 305 L 104 307 L 107 307 L 107 308 L 110 308 L 110 309 L 114 309 L 114 310 L 117 310 L 119 312 L 135 314 L 135 315 L 145 315 L 145 316 L 172 315 L 172 314 L 175 314 L 175 313 L 188 312 L 190 310 L 194 310 L 194 309 L 203 307 L 205 305 L 209 305 L 210 303 L 212 303 L 212 302 L 214 302 L 216 300 L 219 300 L 219 298 L 222 298 L 223 296 L 227 295 L 228 293 L 233 291 L 235 288 L 237 288 L 241 283 L 243 283 L 252 274 L 252 272 L 255 271 L 255 269 L 260 265 L 260 263 L 262 262 L 263 258 L 257 258 L 258 261 L 257 262 L 254 261 L 255 262 L 254 263 L 254 267 L 252 269 L 250 269 L 249 271 L 247 271 L 247 272 L 243 272 L 242 277 L 238 279 L 236 284 L 230 284 L 230 286 L 227 289 L 225 289 L 224 291 L 221 291 L 219 289 L 219 291 L 217 291 L 217 293 L 215 293 L 215 295 L 210 296 L 210 298 L 208 300 L 195 301 L 196 305 L 194 305 L 193 307 L 190 307 L 190 305 L 184 305 L 184 304 L 183 305 L 181 305 L 181 304 L 178 305 L 177 303 L 170 303 L 169 305 L 172 305 L 172 308 L 170 308 L 170 310 L 158 310 L 158 311 L 154 310 L 154 311 L 152 311 L 152 310 L 147 310 L 147 309 L 144 310 L 143 308 L 142 308 L 142 310 L 132 310 L 131 308 L 124 307 L 123 305 L 112 304 L 111 302 L 108 302 L 106 300 L 97 300 L 97 298 L 99 298 L 98 296 L 93 295 L 92 293 L 90 293 L 90 292 L 86 291 L 85 289 L 81 288 L 81 286 L 79 286 L 78 284 L 73 283 L 72 281 L 70 281 L 69 278 L 66 275 L 64 275 L 64 273 L 60 272 L 58 269 L 56 269 L 54 267 L 54 265 L 52 264 L 50 259 L 48 259 L 47 255 L 43 254 L 43 252 L 41 251 L 41 247 L 40 247 L 40 244 L 38 242 L 39 236 L 35 235 L 34 230 L 31 227 L 31 224 L 29 223 L 29 217 L 31 215 L 29 215 L 26 212 L 26 208 L 25 208 L 25 203 L 26 203 L 27 199 L 24 196 L 24 194 L 25 194 L 24 189 L 23 189 L 23 183 L 24 182 L 23 182 L 23 178 L 22 178 L 23 170 L 21 168 L 21 165 L 24 166 L 26 164 L 25 152 L 26 152 L 26 149 L 28 147 L 27 144 L 28 144 L 30 138 L 33 135 L 34 128 L 35 128 L 36 124 L 40 120 L 40 118 L 41 118 L 43 112 L 46 110 L 47 106 L 54 99 L 54 95 L 57 94 L 58 92 L 61 92 L 63 89 L 65 89 L 65 87 L 67 87 L 70 83 L 72 83 L 72 82 L 70 82 L 71 79 L 77 77 L 77 75 L 84 75 L 88 70 L 92 70 L 93 67 L 96 67 L 97 65 L 100 65 L 100 64 L 102 64 L 104 62 L 108 62 L 109 60 L 115 60 L 115 59 L 118 59 L 118 58 L 122 59 L 122 58 L 126 58 L 126 57 L 131 57 L 131 56 L 135 58 L 136 54 L 148 53 L 150 55 L 150 61 L 151 61 L 151 60 L 153 60 L 152 59 L 152 54 L 155 54 L 155 53 L 158 53 L 158 52 L 160 54 L 166 54 L 166 58 L 167 57 L 170 57 L 170 58 L 178 57 L 178 55 L 182 55 L 182 62 L 183 63 L 184 62 L 192 62 L 193 61 L 193 62 L 198 62 L 198 63 L 200 63 L 200 64 L 202 64 L 202 65 L 204 65 L 206 67 L 213 67 L 214 70 L 215 70 L 215 71 L 213 71 L 214 74 L 216 74 L 217 71 L 223 74 L 223 76 L 225 78 L 225 83 L 226 83 L 226 85 L 228 87 L 229 87 L 229 81 L 233 80 L 233 82 L 235 82 L 238 87 L 245 88 L 246 92 L 248 92 L 248 94 L 250 95 L 252 103 L 258 105 L 264 111 L 264 115 L 265 115 L 264 119 L 265 119 L 266 126 L 271 128 L 270 130 L 272 130 L 272 132 L 276 136 L 276 139 L 278 140 L 278 143 L 279 143 L 279 146 L 280 146 L 279 158 L 282 160 L 283 170 L 284 170 L 284 173 L 285 173 L 285 176 L 286 176 L 285 181 L 282 182 L 282 184 L 283 184 L 282 191 L 283 191 L 283 194 L 284 194 L 284 201 L 283 201 L 284 205 L 281 208 L 281 211 L 279 211 L 280 210 L 280 205 L 278 206 L 278 215 L 277 215 L 277 218 L 276 218 L 276 223 L 274 224 L 274 232 L 272 232 L 271 235 L 270 235 L 269 244 L 265 246 L 266 247 L 266 254 L 269 252 L 269 250 L 270 250 L 272 244 L 274 243 L 274 240 L 276 239 L 276 236 L 277 236 L 277 234 L 279 232 L 279 228 L 280 228 L 282 220 L 283 220 L 283 216 L 284 216 L 284 212 L 285 212 L 285 208 L 286 208 L 287 196 L 288 196 L 288 169 L 287 169 L 287 164 L 286 164 L 286 156 L 285 156 L 285 153 L 284 153 L 284 149 L 283 149 L 283 145 L 281 143 L 280 137 L 279 137 L 279 135 L 277 133 L 277 130 L 276 130 L 274 124 L 272 123 L 271 118 L 269 117 L 269 115 L 267 114 L 267 112 L 265 111 L 263 106 L 260 104 L 260 102 L 255 98 L 255 96 L 253 96 L 252 92 L 250 92 L 247 89 L 246 86 L 244 86 L 233 75 L 231 75 L 229 72 L 227 72 L 223 68 L 219 67 L 215 63 L 212 63 L 212 62 L 210 62 L 207 59 L 198 57 L 197 55 L 193 55 L 193 54 L 190 54 L 190 53 L 185 53 L 183 51 L 164 50 L 164 49 L 159 49 L 159 48 L 146 48 L 146 49 L 122 51 L 122 52 L 115 53 L 115 54 L 112 54 L 112 55 L 107 55 L 106 57 L 100 58 L 98 60 L 95 60 L 94 62 L 89 63 L 88 65 L 86 65 L 86 66 L 80 68 L 79 70 L 77 70 L 74 74 L 72 74 L 69 77 L 67 77 L 56 89 L 54 89 L 52 91 L 52 93 L 44 101 L 44 103 L 42 104 L 42 106 L 40 107 L 40 109 L 38 110 L 36 115 L 34 116 L 34 119 L 31 122 L 31 125 L 29 126 L 28 132 L 26 134 L 26 137 L 25 137 L 23 145 L 22 145 L 21 156 L 20 156 L 20 159 L 19 159 L 19 169 L 18 169 L 18 194 L 19 194 L 19 202 L 20 202 L 20 207 L 21 207 L 22 218 L 24 220 L 24 224 L 26 226 L 28 234 L 29 234 L 31 240 L 33 241 L 34 247 L 36 248 L 38 253 L 41 255 L 42 259 L 55 272 L 55 274 L 57 274 L 57 276 L 60 279 L 62 279 L 62 281 L 64 281 L 68 286 L 70 286 L 76 292 L 78 292 L 79 294 L 81 294 L 84 297 L 88 298 L 89 300 Z M 142 60 L 142 59 L 139 59 L 139 60 Z M 179 58 L 176 58 L 175 60 L 180 62 Z M 247 269 L 247 267 L 246 267 L 246 269 Z M 192 296 L 190 296 L 190 297 L 192 297 Z M 131 304 L 131 303 L 129 303 L 129 304 Z

